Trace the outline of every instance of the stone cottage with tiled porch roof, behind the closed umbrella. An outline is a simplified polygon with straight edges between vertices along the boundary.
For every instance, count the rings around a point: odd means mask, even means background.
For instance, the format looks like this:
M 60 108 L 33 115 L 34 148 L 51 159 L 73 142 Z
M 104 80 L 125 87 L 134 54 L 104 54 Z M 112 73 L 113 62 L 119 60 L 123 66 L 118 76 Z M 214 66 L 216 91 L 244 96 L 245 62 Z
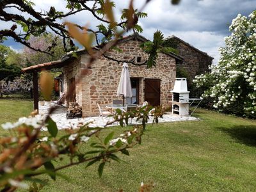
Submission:
M 34 91 L 36 92 L 37 72 L 42 69 L 63 67 L 63 92 L 67 92 L 70 86 L 75 87 L 73 94 L 66 98 L 65 102 L 68 104 L 70 101 L 76 101 L 82 106 L 83 116 L 95 116 L 99 115 L 97 103 L 100 106 L 106 106 L 111 104 L 113 99 L 121 99 L 116 96 L 116 90 L 123 63 L 109 60 L 109 58 L 122 61 L 134 59 L 135 65 L 129 63 L 133 95 L 131 99 L 127 99 L 127 102 L 142 104 L 147 100 L 153 106 L 160 104 L 169 106 L 172 99 L 170 90 L 173 88 L 176 76 L 176 65 L 182 63 L 184 59 L 177 54 L 159 52 L 156 67 L 147 68 L 146 65 L 140 65 L 148 58 L 148 54 L 143 52 L 140 47 L 141 43 L 147 41 L 146 38 L 138 34 L 122 38 L 116 45 L 122 52 L 108 51 L 106 53 L 108 59 L 102 56 L 95 61 L 92 67 L 86 69 L 79 82 L 77 82 L 77 77 L 80 70 L 88 63 L 88 54 L 83 50 L 76 52 L 76 58 L 70 53 L 63 60 L 34 65 L 24 68 L 23 71 L 33 72 Z M 34 105 L 36 108 L 36 101 Z

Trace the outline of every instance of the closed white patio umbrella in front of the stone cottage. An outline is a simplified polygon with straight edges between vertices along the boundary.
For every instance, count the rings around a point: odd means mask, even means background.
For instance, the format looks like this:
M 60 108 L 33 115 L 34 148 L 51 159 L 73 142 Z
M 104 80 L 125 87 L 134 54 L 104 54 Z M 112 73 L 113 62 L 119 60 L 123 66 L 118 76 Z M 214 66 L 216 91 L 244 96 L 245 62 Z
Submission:
M 121 77 L 120 77 L 120 81 L 119 81 L 119 85 L 116 93 L 118 96 L 122 95 L 123 106 L 124 106 L 124 98 L 132 97 L 131 79 L 130 79 L 127 63 L 123 64 L 123 70 L 121 73 Z

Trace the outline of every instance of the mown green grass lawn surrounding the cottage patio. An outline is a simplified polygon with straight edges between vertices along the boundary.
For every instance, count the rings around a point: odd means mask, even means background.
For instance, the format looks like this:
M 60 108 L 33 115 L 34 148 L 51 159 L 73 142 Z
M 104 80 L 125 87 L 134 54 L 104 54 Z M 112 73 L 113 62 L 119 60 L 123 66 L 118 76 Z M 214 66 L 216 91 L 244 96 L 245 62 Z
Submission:
M 0 105 L 0 122 L 32 108 L 27 100 L 0 99 Z M 81 164 L 61 172 L 69 181 L 45 176 L 42 191 L 138 191 L 141 181 L 154 182 L 154 191 L 255 191 L 256 121 L 204 109 L 196 115 L 202 120 L 148 125 L 143 143 L 129 157 L 119 155 L 128 164 L 108 164 L 101 179 L 96 165 Z

